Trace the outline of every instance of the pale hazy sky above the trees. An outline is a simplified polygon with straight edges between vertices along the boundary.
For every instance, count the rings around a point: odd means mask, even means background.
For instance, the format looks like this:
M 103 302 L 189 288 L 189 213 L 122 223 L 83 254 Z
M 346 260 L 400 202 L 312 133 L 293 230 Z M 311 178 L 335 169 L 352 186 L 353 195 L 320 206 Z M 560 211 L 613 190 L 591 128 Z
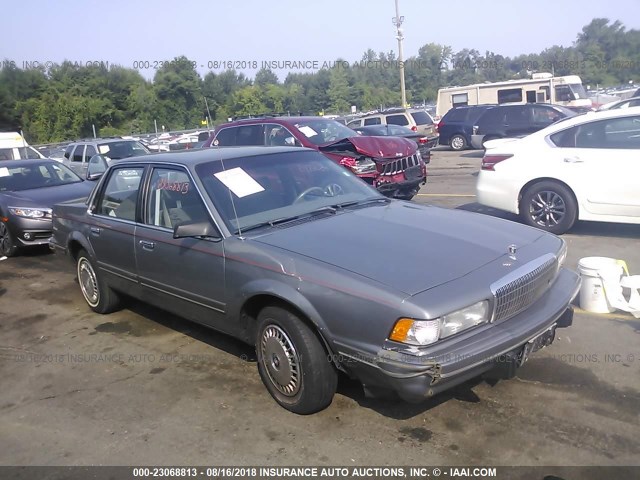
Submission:
M 429 42 L 505 56 L 570 46 L 595 17 L 640 29 L 640 0 L 399 0 L 405 57 Z M 186 55 L 204 74 L 216 62 L 262 65 L 397 51 L 394 0 L 31 0 L 3 2 L 0 60 L 105 61 L 145 67 Z M 307 63 L 309 67 L 312 64 Z M 224 67 L 219 70 L 224 70 Z M 253 76 L 251 70 L 240 68 Z M 288 73 L 277 70 L 284 79 Z

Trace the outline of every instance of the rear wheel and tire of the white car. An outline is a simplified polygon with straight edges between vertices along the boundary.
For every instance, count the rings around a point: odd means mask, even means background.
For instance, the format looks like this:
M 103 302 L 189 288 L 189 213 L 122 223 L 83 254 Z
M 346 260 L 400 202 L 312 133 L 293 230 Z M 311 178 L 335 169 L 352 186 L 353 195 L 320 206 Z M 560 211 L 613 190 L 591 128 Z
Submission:
M 520 216 L 532 227 L 561 235 L 578 219 L 578 205 L 570 189 L 557 182 L 543 181 L 522 195 Z

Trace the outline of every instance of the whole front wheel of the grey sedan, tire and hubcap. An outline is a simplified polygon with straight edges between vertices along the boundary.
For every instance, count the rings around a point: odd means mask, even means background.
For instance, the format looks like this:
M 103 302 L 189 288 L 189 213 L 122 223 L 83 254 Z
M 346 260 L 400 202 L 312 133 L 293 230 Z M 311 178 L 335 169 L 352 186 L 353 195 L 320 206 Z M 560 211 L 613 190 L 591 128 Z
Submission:
M 280 406 L 300 415 L 328 407 L 338 374 L 320 339 L 297 315 L 265 307 L 258 315 L 258 372 Z

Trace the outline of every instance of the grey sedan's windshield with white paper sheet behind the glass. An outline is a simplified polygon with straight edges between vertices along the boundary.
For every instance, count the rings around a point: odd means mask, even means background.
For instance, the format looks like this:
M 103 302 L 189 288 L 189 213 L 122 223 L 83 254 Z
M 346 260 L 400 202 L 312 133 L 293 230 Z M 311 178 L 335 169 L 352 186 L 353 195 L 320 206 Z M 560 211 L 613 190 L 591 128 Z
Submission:
M 355 133 L 354 133 L 355 134 Z M 302 151 L 213 161 L 196 167 L 205 190 L 235 233 L 268 222 L 370 200 L 372 187 L 321 153 Z

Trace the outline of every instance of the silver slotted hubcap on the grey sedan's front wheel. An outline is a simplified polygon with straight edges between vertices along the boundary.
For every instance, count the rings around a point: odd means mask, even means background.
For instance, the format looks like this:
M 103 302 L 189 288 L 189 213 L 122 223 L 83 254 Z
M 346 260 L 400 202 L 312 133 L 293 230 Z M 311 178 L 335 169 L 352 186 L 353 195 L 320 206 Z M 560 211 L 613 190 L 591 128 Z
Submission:
M 288 397 L 300 391 L 300 360 L 293 343 L 277 325 L 269 325 L 260 341 L 262 364 L 276 389 Z

